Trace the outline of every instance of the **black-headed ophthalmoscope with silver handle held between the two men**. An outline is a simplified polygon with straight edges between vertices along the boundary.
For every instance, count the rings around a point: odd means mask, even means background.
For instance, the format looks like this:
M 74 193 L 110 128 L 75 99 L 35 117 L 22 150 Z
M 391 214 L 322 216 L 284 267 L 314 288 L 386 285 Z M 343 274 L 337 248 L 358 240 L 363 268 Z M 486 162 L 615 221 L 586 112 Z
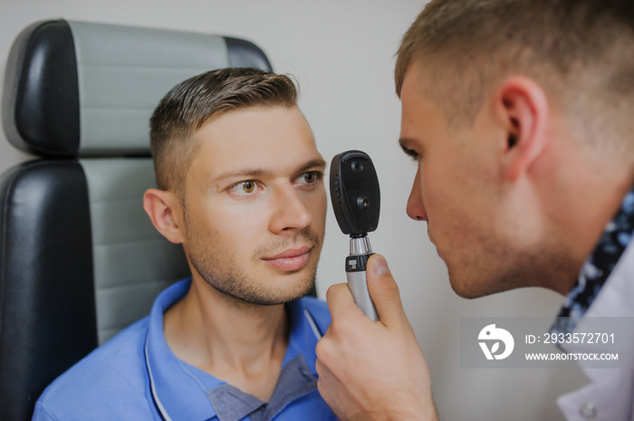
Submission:
M 348 150 L 332 158 L 330 183 L 337 223 L 343 234 L 350 235 L 350 255 L 346 258 L 348 287 L 361 311 L 378 321 L 368 292 L 366 263 L 373 254 L 368 233 L 379 225 L 379 177 L 367 153 Z

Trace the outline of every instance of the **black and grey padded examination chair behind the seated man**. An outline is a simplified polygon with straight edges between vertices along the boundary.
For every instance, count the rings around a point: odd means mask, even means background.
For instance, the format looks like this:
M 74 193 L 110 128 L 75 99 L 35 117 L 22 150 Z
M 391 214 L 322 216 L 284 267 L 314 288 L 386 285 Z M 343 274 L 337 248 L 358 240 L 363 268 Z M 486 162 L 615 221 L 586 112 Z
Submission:
M 271 70 L 253 43 L 52 20 L 14 41 L 6 138 L 40 158 L 0 179 L 0 419 L 31 419 L 43 389 L 149 314 L 187 261 L 149 222 L 149 117 L 169 89 L 221 67 Z

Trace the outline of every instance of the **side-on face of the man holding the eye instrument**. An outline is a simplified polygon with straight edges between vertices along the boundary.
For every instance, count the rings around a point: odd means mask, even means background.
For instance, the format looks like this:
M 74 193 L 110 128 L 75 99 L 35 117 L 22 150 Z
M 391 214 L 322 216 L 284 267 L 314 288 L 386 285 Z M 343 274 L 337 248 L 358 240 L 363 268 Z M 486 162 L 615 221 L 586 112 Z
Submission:
M 527 276 L 533 257 L 504 212 L 504 197 L 513 195 L 500 182 L 496 160 L 505 134 L 486 102 L 473 124 L 451 124 L 451 111 L 430 94 L 433 89 L 422 64 L 412 62 L 401 90 L 400 144 L 418 162 L 408 215 L 427 221 L 457 294 L 476 298 L 526 286 L 534 282 Z

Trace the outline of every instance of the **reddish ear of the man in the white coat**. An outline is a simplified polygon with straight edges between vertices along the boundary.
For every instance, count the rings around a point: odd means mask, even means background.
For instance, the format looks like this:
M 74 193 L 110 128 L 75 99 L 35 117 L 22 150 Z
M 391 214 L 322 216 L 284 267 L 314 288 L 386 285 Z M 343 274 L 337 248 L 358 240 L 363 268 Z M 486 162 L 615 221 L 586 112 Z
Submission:
M 548 100 L 535 81 L 514 76 L 498 87 L 494 101 L 495 114 L 506 133 L 504 177 L 514 181 L 533 165 L 545 147 Z

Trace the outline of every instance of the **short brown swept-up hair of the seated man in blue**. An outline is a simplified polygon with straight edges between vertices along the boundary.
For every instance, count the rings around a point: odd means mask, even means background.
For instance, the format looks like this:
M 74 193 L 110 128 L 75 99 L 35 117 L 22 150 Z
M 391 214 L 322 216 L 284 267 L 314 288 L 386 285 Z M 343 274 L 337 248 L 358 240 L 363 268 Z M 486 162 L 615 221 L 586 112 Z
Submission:
M 187 168 L 198 149 L 194 133 L 207 120 L 231 110 L 296 104 L 297 89 L 289 77 L 253 68 L 205 72 L 179 83 L 149 120 L 158 187 L 184 196 Z

